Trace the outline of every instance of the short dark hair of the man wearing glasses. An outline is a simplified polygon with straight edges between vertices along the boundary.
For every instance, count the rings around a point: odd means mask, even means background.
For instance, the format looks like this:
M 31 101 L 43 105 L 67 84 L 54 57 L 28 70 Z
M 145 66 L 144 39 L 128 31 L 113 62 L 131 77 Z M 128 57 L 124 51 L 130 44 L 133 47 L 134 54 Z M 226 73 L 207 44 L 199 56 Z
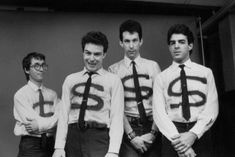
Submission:
M 33 58 L 38 59 L 38 60 L 44 60 L 44 61 L 46 60 L 45 55 L 38 53 L 38 52 L 30 52 L 23 58 L 22 67 L 23 67 L 27 81 L 29 80 L 29 74 L 27 74 L 25 70 L 28 71 L 30 69 L 31 61 Z

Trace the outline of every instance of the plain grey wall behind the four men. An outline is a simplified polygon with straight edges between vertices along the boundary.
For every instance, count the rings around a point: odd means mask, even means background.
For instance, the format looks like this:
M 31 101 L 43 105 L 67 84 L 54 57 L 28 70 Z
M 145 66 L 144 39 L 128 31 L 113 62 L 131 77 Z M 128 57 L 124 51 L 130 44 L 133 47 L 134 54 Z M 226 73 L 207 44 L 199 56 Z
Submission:
M 138 20 L 143 27 L 141 56 L 155 60 L 161 69 L 171 64 L 166 44 L 168 28 L 175 23 L 189 25 L 195 32 L 195 18 L 139 14 L 92 14 L 55 12 L 0 12 L 0 156 L 18 152 L 19 137 L 14 136 L 13 96 L 26 83 L 21 67 L 23 57 L 32 51 L 46 55 L 49 70 L 45 85 L 61 95 L 66 75 L 83 68 L 81 38 L 91 30 L 105 33 L 109 39 L 104 68 L 123 58 L 119 46 L 119 25 L 127 19 Z M 200 62 L 197 42 L 192 60 Z

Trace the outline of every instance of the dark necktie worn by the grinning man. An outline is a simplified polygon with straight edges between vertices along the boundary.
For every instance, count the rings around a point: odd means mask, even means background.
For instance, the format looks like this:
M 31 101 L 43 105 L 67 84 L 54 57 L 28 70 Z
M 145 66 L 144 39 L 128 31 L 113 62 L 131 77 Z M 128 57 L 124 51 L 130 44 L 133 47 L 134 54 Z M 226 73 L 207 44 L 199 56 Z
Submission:
M 94 74 L 94 72 L 87 72 L 89 75 L 89 78 L 87 79 L 85 90 L 83 93 L 83 99 L 82 99 L 82 105 L 80 108 L 80 113 L 79 113 L 79 119 L 78 119 L 78 126 L 80 129 L 85 129 L 85 121 L 84 121 L 84 116 L 85 116 L 85 111 L 87 108 L 87 99 L 88 99 L 88 94 L 90 91 L 90 86 L 91 86 L 91 76 Z

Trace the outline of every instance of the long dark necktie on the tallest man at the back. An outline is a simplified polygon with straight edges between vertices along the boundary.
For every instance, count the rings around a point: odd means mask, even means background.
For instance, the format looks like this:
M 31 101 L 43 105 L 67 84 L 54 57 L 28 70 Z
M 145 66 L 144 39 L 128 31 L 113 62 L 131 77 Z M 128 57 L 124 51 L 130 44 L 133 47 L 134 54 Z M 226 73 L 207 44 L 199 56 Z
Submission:
M 143 125 L 146 125 L 147 124 L 147 117 L 146 117 L 146 113 L 145 113 L 145 109 L 144 109 L 144 105 L 143 105 L 143 101 L 142 101 L 140 84 L 139 84 L 139 80 L 138 80 L 138 74 L 137 74 L 137 71 L 135 68 L 135 62 L 132 61 L 132 64 L 133 64 L 132 68 L 133 68 L 133 76 L 134 76 L 136 102 L 137 102 L 138 111 L 140 114 L 140 120 Z

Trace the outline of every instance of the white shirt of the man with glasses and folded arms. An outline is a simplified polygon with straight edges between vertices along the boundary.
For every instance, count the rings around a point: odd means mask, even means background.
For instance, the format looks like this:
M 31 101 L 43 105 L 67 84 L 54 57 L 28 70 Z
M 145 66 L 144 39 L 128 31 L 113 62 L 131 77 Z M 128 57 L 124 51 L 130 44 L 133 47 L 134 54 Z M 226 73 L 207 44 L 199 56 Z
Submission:
M 37 105 L 39 102 L 39 89 L 41 89 L 44 97 L 43 111 L 45 116 L 40 116 L 40 106 Z M 39 137 L 42 133 L 51 133 L 52 129 L 58 119 L 59 100 L 57 94 L 53 90 L 41 86 L 40 88 L 33 82 L 28 83 L 20 88 L 14 95 L 14 117 L 16 120 L 14 133 L 16 136 L 31 135 Z M 27 123 L 27 119 L 35 119 L 39 125 L 39 133 L 31 134 L 25 129 L 24 124 Z

